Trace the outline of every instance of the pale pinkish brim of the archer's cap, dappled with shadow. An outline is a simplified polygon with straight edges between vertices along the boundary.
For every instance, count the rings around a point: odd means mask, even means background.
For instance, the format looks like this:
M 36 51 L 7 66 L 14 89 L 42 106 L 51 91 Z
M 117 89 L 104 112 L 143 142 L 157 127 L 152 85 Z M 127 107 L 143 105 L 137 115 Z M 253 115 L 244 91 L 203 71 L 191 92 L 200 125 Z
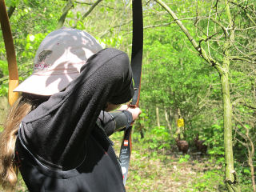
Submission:
M 26 78 L 14 92 L 25 92 L 39 95 L 52 95 L 60 92 L 69 85 L 70 82 L 77 78 L 79 73 L 72 74 L 52 74 L 50 76 L 32 74 Z

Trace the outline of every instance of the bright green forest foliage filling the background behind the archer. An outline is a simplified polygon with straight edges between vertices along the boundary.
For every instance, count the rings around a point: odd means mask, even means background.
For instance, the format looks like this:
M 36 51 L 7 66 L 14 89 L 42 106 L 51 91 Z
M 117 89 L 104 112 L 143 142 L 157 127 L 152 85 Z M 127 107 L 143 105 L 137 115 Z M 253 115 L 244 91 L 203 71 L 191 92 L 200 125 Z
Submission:
M 151 150 L 174 150 L 175 138 L 180 134 L 189 142 L 190 153 L 195 151 L 194 138 L 198 134 L 208 146 L 210 159 L 224 169 L 223 72 L 229 80 L 232 115 L 228 120 L 234 170 L 241 191 L 255 191 L 256 1 L 166 0 L 165 3 L 186 26 L 198 47 L 191 44 L 191 39 L 159 1 L 143 1 L 140 100 L 143 113 L 134 132 L 142 137 L 153 135 Z M 227 5 L 230 14 L 226 14 Z M 32 73 L 35 51 L 42 39 L 61 26 L 86 30 L 102 46 L 131 53 L 129 0 L 6 0 L 6 6 L 21 81 Z M 208 61 L 198 48 L 206 51 Z M 6 97 L 7 92 L 6 50 L 0 41 L 0 96 Z M 178 118 L 184 119 L 184 126 L 177 126 Z

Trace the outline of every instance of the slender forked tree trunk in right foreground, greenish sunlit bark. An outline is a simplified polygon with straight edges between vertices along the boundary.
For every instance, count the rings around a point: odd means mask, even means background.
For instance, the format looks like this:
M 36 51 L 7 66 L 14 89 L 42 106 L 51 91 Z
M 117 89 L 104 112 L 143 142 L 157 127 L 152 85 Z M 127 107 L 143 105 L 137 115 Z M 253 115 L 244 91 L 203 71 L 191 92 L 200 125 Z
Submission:
M 234 158 L 233 158 L 233 143 L 232 143 L 232 106 L 230 103 L 230 87 L 229 87 L 229 76 L 228 70 L 230 65 L 229 59 L 229 50 L 230 45 L 234 42 L 234 30 L 230 30 L 230 34 L 226 31 L 226 43 L 224 45 L 225 55 L 222 65 L 215 60 L 214 58 L 210 57 L 206 53 L 206 50 L 202 48 L 202 46 L 195 41 L 195 39 L 190 34 L 189 30 L 183 25 L 181 20 L 178 19 L 177 15 L 174 13 L 173 10 L 170 9 L 166 3 L 162 2 L 162 0 L 154 0 L 158 2 L 174 19 L 176 24 L 181 28 L 182 32 L 186 34 L 186 37 L 190 40 L 194 49 L 198 51 L 198 54 L 206 60 L 211 66 L 214 66 L 216 70 L 218 70 L 218 74 L 221 78 L 222 83 L 222 97 L 223 97 L 223 119 L 224 119 L 224 145 L 225 145 L 225 161 L 226 161 L 226 186 L 230 192 L 237 192 L 240 191 L 237 181 L 237 174 L 234 171 Z M 230 7 L 228 0 L 225 0 L 226 4 L 226 15 L 229 21 L 230 27 L 233 27 L 233 20 L 230 14 Z M 213 18 L 210 18 L 213 19 Z M 222 26 L 220 22 L 217 22 L 218 25 Z M 223 28 L 223 26 L 222 26 Z M 225 27 L 224 27 L 225 28 Z M 225 28 L 226 29 L 226 28 Z

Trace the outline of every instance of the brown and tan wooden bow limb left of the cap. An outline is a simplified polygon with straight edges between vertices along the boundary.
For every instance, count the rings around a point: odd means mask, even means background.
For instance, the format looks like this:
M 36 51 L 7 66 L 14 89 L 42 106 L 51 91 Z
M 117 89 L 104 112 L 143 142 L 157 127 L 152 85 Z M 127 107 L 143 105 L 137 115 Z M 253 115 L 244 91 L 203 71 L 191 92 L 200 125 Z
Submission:
M 12 106 L 18 99 L 18 92 L 13 92 L 13 90 L 18 86 L 18 66 L 14 50 L 14 39 L 11 34 L 10 22 L 4 0 L 0 0 L 0 22 L 2 28 L 2 36 L 6 47 L 6 56 L 9 70 L 8 102 L 10 106 Z

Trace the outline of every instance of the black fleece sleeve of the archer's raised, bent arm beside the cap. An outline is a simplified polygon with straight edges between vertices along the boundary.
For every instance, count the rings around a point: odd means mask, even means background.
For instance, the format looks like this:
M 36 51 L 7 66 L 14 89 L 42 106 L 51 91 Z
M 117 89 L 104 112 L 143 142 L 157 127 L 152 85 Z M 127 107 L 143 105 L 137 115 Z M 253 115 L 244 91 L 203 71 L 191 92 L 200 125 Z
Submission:
M 106 103 L 129 102 L 133 94 L 128 55 L 115 49 L 101 50 L 87 60 L 65 90 L 23 118 L 22 139 L 38 158 L 70 166 L 85 150 Z

